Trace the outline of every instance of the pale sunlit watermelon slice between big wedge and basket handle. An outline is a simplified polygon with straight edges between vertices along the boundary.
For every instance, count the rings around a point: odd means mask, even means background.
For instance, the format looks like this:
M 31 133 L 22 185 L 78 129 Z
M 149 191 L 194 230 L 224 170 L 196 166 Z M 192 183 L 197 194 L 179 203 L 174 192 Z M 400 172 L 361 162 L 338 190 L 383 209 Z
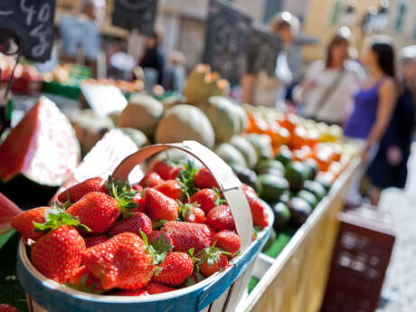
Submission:
M 130 137 L 120 129 L 110 130 L 91 148 L 71 178 L 53 196 L 52 201 L 64 190 L 90 177 L 99 176 L 107 179 L 124 158 L 135 152 L 137 145 Z

